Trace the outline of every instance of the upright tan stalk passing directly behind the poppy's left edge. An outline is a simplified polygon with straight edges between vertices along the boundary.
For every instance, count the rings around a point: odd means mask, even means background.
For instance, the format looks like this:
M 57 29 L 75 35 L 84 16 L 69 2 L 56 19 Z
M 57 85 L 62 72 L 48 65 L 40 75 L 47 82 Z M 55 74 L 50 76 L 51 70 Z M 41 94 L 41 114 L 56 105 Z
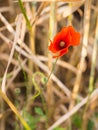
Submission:
M 57 3 L 56 2 L 51 2 L 50 3 L 50 13 L 49 13 L 49 38 L 53 38 L 54 35 L 56 34 L 57 30 L 57 20 L 56 20 L 56 12 L 57 12 Z M 49 42 L 50 44 L 50 42 Z M 57 60 L 56 60 L 57 61 Z M 56 61 L 54 65 L 52 65 L 52 55 L 49 53 L 48 54 L 48 67 L 51 70 L 51 73 L 53 73 Z M 48 82 L 47 82 L 47 106 L 48 108 L 48 123 L 49 125 L 52 123 L 51 118 L 53 118 L 53 105 L 54 105 L 54 94 L 53 94 L 53 82 L 52 80 L 49 80 L 51 77 L 51 73 L 48 76 Z

